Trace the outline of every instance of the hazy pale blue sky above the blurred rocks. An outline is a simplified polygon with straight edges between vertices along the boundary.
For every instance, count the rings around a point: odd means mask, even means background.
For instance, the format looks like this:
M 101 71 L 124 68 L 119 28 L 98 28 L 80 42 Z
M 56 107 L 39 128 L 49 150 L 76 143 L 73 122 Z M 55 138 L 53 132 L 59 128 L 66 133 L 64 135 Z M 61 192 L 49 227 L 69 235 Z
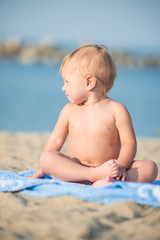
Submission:
M 0 38 L 160 49 L 159 0 L 0 0 Z

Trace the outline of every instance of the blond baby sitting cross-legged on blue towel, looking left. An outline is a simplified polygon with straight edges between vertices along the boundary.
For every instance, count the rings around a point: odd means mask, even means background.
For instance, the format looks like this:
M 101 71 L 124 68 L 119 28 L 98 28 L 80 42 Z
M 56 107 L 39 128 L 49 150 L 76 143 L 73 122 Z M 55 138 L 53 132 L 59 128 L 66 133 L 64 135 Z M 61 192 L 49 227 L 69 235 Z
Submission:
M 155 180 L 158 168 L 153 161 L 134 160 L 137 146 L 130 114 L 107 96 L 116 67 L 105 46 L 77 48 L 64 58 L 60 72 L 70 103 L 62 109 L 32 178 L 49 174 L 64 181 L 92 182 L 93 187 L 114 180 Z M 65 155 L 60 150 L 67 136 Z

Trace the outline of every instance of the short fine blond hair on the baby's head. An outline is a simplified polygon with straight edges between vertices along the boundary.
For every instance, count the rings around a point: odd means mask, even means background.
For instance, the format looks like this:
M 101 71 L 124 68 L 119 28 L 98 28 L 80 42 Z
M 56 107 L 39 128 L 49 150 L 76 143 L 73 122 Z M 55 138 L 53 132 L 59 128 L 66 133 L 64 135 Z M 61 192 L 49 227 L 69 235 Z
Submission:
M 72 70 L 78 68 L 84 79 L 88 76 L 95 77 L 97 82 L 100 81 L 103 84 L 105 93 L 114 84 L 116 66 L 103 45 L 84 45 L 75 49 L 63 59 L 60 72 L 66 64 Z

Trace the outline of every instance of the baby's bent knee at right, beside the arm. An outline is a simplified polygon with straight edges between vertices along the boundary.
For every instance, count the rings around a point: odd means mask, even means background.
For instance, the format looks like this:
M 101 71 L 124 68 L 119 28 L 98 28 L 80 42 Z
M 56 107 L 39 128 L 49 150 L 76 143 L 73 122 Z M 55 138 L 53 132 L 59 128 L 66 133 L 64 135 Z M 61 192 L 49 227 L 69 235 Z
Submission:
M 153 161 L 133 161 L 127 170 L 127 180 L 130 182 L 153 182 L 158 175 L 158 167 Z

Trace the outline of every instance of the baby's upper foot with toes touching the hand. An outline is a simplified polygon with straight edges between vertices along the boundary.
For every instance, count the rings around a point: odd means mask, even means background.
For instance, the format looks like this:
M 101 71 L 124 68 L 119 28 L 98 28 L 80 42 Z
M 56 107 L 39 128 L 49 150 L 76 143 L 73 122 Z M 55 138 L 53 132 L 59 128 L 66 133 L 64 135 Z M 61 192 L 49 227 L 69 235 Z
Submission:
M 93 181 L 104 180 L 107 176 L 115 178 L 118 175 L 118 165 L 115 159 L 111 159 L 102 165 L 93 168 Z

